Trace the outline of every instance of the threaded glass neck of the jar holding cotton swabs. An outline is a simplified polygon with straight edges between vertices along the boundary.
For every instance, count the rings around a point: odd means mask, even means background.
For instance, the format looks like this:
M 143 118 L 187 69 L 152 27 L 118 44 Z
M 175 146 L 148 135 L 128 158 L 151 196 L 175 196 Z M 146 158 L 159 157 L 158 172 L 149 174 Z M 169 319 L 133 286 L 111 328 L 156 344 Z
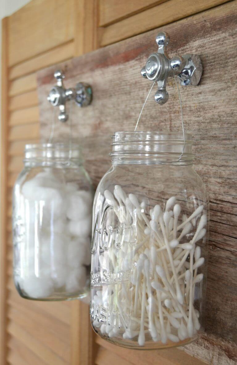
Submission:
M 190 134 L 176 132 L 115 132 L 112 137 L 113 165 L 192 165 Z

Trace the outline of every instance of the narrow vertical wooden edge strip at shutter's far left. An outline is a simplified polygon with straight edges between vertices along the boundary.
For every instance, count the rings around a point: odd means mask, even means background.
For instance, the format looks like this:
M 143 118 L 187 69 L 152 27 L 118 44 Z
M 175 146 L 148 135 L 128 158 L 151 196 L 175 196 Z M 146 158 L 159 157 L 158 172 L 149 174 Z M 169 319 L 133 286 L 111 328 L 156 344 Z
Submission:
M 7 207 L 7 149 L 8 149 L 8 18 L 1 21 L 1 223 L 0 223 L 0 364 L 5 364 L 6 361 L 6 278 L 7 278 L 7 217 L 5 210 Z

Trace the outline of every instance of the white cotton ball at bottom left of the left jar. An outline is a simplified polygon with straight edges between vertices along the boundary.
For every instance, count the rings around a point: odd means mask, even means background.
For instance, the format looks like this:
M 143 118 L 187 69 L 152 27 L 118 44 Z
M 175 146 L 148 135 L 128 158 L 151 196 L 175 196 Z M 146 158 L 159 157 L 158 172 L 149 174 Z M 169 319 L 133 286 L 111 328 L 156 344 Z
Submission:
M 54 285 L 48 277 L 32 275 L 21 279 L 21 289 L 31 298 L 47 298 L 54 292 Z

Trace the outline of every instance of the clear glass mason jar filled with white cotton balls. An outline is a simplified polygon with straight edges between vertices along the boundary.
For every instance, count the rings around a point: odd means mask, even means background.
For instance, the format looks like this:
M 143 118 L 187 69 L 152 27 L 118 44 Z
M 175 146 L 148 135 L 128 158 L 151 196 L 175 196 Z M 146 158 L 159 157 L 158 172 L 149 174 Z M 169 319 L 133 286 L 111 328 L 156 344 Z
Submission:
M 25 146 L 13 190 L 13 272 L 22 297 L 87 296 L 93 197 L 78 145 Z

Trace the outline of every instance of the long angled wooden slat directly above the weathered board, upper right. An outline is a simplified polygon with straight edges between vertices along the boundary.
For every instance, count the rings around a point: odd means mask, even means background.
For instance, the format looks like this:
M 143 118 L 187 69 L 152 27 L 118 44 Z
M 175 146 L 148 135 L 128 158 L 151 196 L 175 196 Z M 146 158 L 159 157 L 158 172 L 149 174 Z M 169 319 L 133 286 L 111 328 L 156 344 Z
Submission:
M 161 27 L 228 0 L 170 0 L 102 29 L 100 47 Z

